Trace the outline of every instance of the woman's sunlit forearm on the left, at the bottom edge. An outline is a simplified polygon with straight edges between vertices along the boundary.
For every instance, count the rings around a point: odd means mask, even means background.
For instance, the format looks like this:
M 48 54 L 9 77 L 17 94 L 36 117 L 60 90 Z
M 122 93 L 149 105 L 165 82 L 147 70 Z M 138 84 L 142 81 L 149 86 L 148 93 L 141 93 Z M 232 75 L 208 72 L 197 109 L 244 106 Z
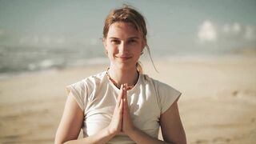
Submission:
M 65 142 L 65 144 L 84 144 L 84 143 L 106 143 L 114 137 L 115 134 L 111 134 L 109 129 L 106 127 L 100 130 L 97 134 L 93 134 L 86 138 L 81 138 L 77 140 L 71 140 Z

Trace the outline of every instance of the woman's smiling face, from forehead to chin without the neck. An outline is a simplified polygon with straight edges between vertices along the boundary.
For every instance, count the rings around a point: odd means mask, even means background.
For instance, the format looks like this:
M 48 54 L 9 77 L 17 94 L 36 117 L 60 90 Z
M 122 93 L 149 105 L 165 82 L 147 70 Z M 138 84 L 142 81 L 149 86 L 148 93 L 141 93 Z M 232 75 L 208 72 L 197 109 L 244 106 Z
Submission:
M 103 40 L 111 66 L 131 69 L 136 66 L 144 48 L 142 35 L 127 22 L 114 22 Z

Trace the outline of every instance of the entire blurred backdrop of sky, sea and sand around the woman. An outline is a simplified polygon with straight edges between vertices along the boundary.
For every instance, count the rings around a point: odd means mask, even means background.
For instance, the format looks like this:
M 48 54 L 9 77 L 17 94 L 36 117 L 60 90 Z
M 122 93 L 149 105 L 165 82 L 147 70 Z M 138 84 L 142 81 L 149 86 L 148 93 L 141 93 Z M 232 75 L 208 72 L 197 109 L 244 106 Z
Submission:
M 106 70 L 123 4 L 146 18 L 145 73 L 182 92 L 188 143 L 255 143 L 255 0 L 0 0 L 0 143 L 54 142 L 65 86 Z

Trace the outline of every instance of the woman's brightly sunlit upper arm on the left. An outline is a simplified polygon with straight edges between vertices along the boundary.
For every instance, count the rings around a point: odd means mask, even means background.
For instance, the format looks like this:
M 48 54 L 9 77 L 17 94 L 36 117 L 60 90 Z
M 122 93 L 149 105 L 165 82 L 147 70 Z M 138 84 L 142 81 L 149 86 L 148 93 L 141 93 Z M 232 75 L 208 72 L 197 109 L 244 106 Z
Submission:
M 78 102 L 69 95 L 55 136 L 55 144 L 77 139 L 83 122 L 83 111 Z

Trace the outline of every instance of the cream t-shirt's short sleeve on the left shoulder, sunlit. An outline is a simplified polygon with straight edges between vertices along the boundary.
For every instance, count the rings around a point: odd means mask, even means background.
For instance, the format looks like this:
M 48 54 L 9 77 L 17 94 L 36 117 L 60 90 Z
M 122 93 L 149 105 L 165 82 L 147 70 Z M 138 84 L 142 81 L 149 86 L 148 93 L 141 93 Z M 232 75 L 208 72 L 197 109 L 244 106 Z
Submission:
M 66 86 L 66 94 L 74 97 L 82 111 L 86 109 L 86 83 L 77 82 Z

